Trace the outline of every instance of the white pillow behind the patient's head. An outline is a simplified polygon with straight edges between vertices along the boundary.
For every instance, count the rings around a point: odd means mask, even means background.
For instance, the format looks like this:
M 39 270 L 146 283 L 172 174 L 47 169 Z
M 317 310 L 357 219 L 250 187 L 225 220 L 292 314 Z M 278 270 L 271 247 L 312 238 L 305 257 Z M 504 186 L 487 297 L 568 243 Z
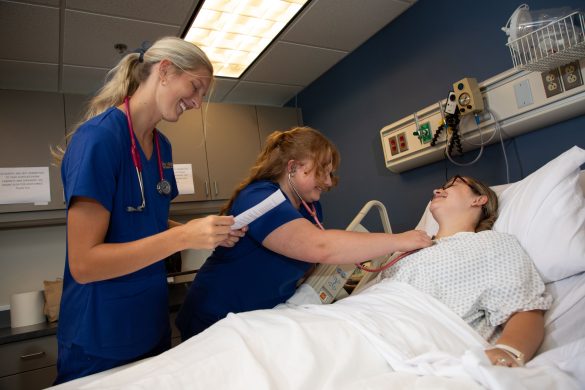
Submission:
M 585 198 L 579 167 L 585 150 L 574 146 L 523 180 L 492 189 L 500 201 L 494 230 L 515 235 L 545 282 L 585 270 Z M 439 225 L 429 211 L 416 229 Z

